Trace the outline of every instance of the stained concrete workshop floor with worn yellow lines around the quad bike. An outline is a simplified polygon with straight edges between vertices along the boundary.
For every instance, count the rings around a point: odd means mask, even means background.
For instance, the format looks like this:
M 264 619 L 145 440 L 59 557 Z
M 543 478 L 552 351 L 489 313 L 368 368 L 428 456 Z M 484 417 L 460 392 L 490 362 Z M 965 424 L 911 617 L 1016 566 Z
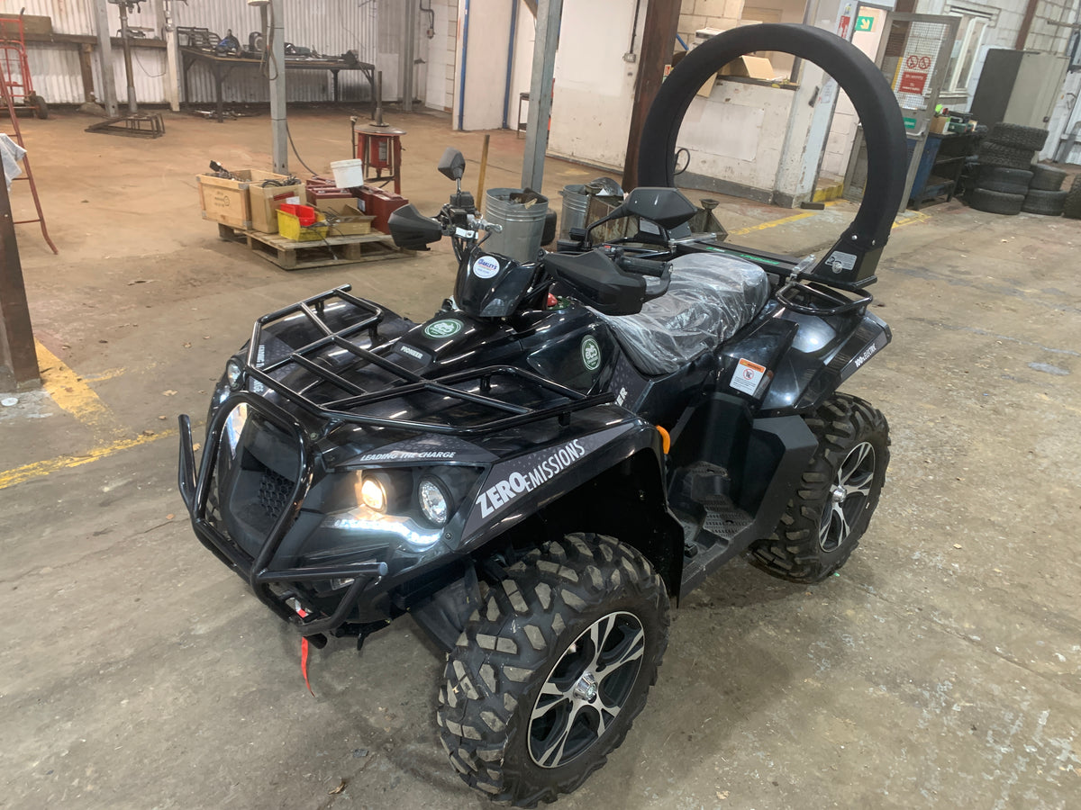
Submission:
M 480 134 L 388 119 L 422 210 L 452 188 L 449 144 L 476 187 Z M 317 651 L 310 696 L 298 638 L 196 542 L 176 491 L 176 415 L 201 421 L 255 316 L 350 282 L 427 318 L 449 248 L 283 272 L 219 242 L 196 198 L 212 158 L 269 165 L 266 116 L 166 116 L 152 141 L 86 123 L 23 122 L 61 254 L 18 227 L 51 393 L 0 408 L 0 807 L 488 807 L 437 741 L 441 661 L 416 625 Z M 348 126 L 292 117 L 318 170 Z M 518 185 L 522 145 L 493 134 L 489 187 Z M 549 161 L 546 188 L 597 174 Z M 852 213 L 719 211 L 791 253 Z M 812 588 L 742 562 L 709 579 L 626 743 L 561 807 L 1078 806 L 1081 221 L 958 202 L 900 221 L 873 288 L 894 342 L 846 387 L 893 432 L 863 548 Z

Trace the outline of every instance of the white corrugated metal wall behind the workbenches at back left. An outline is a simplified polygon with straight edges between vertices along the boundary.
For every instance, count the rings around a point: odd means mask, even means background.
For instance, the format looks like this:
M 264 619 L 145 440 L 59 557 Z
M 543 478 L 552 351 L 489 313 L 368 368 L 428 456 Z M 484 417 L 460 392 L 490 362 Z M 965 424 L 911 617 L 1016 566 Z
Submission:
M 133 27 L 160 29 L 162 0 L 149 0 L 141 14 L 131 14 Z M 395 3 L 384 0 L 387 5 Z M 15 8 L 17 6 L 17 8 Z M 27 14 L 52 17 L 57 33 L 96 36 L 92 0 L 3 0 L 0 11 L 18 13 L 25 6 Z M 227 30 L 246 45 L 248 35 L 259 29 L 259 12 L 245 0 L 189 0 L 187 4 L 174 2 L 176 24 L 210 28 L 221 36 Z M 296 45 L 313 48 L 326 55 L 357 51 L 361 62 L 376 63 L 378 45 L 378 0 L 284 0 L 285 39 Z M 120 28 L 116 5 L 109 6 L 112 33 Z M 155 36 L 148 33 L 148 36 Z M 50 104 L 81 104 L 82 79 L 79 69 L 78 45 L 30 43 L 27 45 L 30 73 L 35 90 Z M 126 102 L 128 80 L 119 49 L 114 49 L 114 72 L 117 95 Z M 163 49 L 135 48 L 135 97 L 148 104 L 163 104 L 165 95 L 165 52 Z M 344 100 L 368 99 L 370 90 L 360 71 L 343 70 L 339 75 Z M 101 96 L 101 66 L 94 49 L 94 86 Z M 291 102 L 322 102 L 333 98 L 333 79 L 326 70 L 290 70 L 286 80 Z M 255 66 L 238 66 L 229 73 L 224 86 L 226 102 L 268 102 L 267 79 Z M 209 69 L 195 65 L 188 75 L 188 92 L 192 103 L 210 104 L 214 100 L 214 81 Z

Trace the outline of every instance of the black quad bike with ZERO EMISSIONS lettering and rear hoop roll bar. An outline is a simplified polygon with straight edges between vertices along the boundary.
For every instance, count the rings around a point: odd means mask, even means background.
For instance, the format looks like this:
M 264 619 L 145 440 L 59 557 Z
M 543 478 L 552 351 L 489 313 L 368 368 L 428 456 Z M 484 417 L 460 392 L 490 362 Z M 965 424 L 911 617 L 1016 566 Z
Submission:
M 679 123 L 722 65 L 786 51 L 838 77 L 878 178 L 825 258 L 690 233 Z M 343 286 L 261 318 L 226 365 L 201 463 L 181 417 L 199 539 L 318 646 L 411 613 L 448 653 L 453 766 L 531 807 L 575 789 L 642 711 L 669 600 L 746 554 L 815 582 L 879 500 L 885 419 L 838 387 L 890 341 L 863 288 L 902 194 L 900 114 L 878 69 L 814 28 L 721 35 L 672 71 L 640 176 L 605 220 L 518 261 L 484 251 L 458 191 L 399 244 L 442 235 L 454 297 L 412 323 Z M 441 164 L 461 179 L 464 161 Z M 593 240 L 623 220 L 627 235 Z M 606 231 L 608 232 L 608 231 Z

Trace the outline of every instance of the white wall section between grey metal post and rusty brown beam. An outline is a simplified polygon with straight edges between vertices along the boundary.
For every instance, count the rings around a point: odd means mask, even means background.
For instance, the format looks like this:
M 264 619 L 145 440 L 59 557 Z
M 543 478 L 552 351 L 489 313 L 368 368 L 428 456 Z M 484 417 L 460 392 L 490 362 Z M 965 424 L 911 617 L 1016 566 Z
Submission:
M 548 152 L 623 170 L 637 63 L 630 49 L 635 0 L 564 0 Z M 645 22 L 639 13 L 636 51 Z

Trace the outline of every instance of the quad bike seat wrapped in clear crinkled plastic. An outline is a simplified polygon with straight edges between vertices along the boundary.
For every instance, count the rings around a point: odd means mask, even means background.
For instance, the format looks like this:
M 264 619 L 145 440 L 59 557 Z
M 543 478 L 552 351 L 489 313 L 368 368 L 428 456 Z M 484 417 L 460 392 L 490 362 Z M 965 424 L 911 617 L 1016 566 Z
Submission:
M 721 254 L 671 262 L 668 292 L 636 315 L 601 315 L 639 372 L 670 374 L 713 351 L 758 314 L 770 297 L 765 272 Z M 598 313 L 600 314 L 600 313 Z

